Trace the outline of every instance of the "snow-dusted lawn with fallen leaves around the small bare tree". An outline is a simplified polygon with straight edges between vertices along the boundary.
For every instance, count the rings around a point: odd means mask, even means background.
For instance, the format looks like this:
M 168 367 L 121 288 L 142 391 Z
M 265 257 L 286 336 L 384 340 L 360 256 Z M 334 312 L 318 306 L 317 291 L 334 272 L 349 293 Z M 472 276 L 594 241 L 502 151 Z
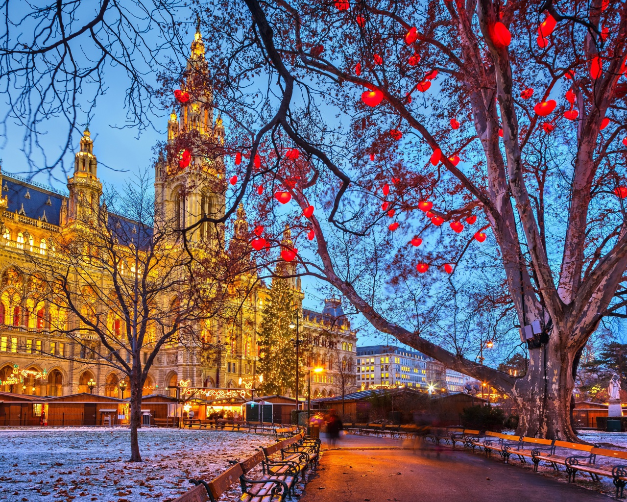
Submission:
M 247 432 L 141 429 L 143 462 L 130 457 L 128 429 L 0 430 L 0 500 L 166 502 L 273 439 Z M 238 484 L 221 500 L 237 500 Z

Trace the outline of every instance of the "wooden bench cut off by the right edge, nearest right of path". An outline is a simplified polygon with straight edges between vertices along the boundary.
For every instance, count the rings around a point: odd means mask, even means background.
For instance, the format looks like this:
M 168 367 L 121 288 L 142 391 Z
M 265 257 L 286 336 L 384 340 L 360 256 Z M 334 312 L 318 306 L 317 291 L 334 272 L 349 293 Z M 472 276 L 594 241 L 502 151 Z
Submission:
M 599 463 L 598 461 L 603 463 Z M 594 481 L 599 476 L 612 478 L 616 486 L 616 498 L 623 498 L 623 489 L 627 484 L 627 451 L 609 450 L 593 447 L 588 455 L 572 455 L 564 461 L 568 481 L 575 481 L 577 472 L 590 474 Z

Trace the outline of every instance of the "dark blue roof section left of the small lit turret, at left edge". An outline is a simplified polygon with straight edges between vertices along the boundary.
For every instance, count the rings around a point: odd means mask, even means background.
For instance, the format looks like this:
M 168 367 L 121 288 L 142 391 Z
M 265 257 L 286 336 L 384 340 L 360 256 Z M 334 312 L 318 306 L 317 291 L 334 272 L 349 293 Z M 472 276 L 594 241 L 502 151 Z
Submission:
M 23 214 L 33 220 L 43 219 L 51 225 L 60 225 L 65 195 L 16 174 L 3 172 L 2 183 L 2 195 L 8 196 L 8 211 Z

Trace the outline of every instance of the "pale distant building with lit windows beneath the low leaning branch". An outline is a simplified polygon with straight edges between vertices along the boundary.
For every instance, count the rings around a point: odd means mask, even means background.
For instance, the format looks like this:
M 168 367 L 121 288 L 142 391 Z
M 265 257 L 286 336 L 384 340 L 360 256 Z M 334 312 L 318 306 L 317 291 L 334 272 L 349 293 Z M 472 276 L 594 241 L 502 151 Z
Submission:
M 357 347 L 357 387 L 463 392 L 466 377 L 421 352 L 396 345 Z

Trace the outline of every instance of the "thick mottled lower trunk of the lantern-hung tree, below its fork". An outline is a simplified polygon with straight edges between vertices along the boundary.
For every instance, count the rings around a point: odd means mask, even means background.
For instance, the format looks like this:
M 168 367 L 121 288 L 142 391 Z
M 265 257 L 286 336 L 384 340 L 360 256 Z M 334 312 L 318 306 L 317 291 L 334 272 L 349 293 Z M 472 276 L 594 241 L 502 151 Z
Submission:
M 514 384 L 517 434 L 579 442 L 571 424 L 574 351 L 561 348 L 554 329 L 549 343 L 529 351 L 527 375 Z

